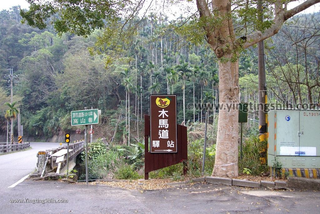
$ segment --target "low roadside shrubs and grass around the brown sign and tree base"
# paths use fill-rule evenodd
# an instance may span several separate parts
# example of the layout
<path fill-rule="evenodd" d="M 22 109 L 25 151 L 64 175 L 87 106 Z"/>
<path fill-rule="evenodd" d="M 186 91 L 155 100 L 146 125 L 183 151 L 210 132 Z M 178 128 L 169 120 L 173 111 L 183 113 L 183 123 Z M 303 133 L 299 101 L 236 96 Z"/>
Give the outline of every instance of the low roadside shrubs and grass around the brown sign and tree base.
<path fill-rule="evenodd" d="M 189 180 L 196 177 L 210 176 L 215 159 L 216 134 L 210 130 L 215 127 L 208 127 L 208 144 L 205 152 L 205 168 L 202 175 L 203 161 L 203 124 L 188 129 L 188 172 L 183 176 L 183 164 L 179 163 L 170 167 L 159 169 L 149 173 L 149 178 L 170 178 L 172 181 Z M 195 128 L 195 130 L 193 130 Z M 268 172 L 266 164 L 260 163 L 260 150 L 264 144 L 260 144 L 257 137 L 257 129 L 245 129 L 243 144 L 243 159 L 240 161 L 239 172 L 244 169 L 250 171 L 250 175 L 261 176 Z M 199 139 L 197 139 L 199 138 Z M 89 144 L 89 180 L 95 179 L 125 179 L 135 180 L 144 178 L 144 141 L 130 146 L 122 144 L 111 144 L 101 138 Z M 239 146 L 240 155 L 240 146 Z M 79 180 L 85 179 L 85 153 L 82 152 L 77 160 L 79 166 Z M 247 171 L 246 171 L 247 172 Z M 246 174 L 244 172 L 244 174 Z"/>

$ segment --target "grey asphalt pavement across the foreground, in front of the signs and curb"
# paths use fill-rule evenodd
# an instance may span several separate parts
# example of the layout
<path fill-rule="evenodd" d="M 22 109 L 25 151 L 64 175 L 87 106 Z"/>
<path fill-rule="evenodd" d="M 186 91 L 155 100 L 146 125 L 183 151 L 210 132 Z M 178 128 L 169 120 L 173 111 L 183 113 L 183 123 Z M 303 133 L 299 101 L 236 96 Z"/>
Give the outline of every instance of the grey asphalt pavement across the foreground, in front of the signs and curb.
<path fill-rule="evenodd" d="M 141 193 L 105 185 L 28 180 L 4 190 L 0 213 L 320 213 L 319 201 L 319 192 L 203 183 Z"/>

